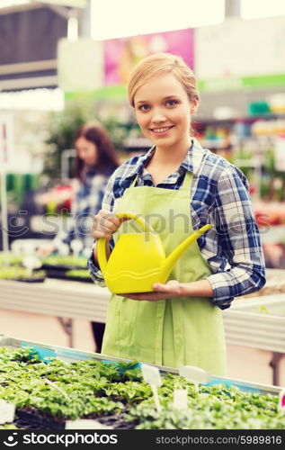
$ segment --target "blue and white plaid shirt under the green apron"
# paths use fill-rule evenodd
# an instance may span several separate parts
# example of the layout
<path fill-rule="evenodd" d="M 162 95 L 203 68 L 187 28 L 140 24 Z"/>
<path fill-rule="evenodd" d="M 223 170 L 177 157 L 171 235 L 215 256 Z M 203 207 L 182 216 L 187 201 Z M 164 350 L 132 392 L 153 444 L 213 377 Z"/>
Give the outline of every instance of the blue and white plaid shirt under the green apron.
<path fill-rule="evenodd" d="M 102 209 L 113 211 L 136 175 L 138 185 L 153 186 L 145 166 L 155 148 L 146 155 L 132 157 L 111 175 L 102 202 Z M 182 165 L 159 187 L 179 189 L 186 171 L 193 174 L 189 193 L 191 222 L 194 230 L 206 223 L 214 227 L 198 239 L 201 256 L 212 274 L 207 277 L 213 289 L 212 302 L 225 310 L 235 297 L 259 291 L 265 284 L 265 266 L 259 230 L 248 193 L 245 175 L 225 158 L 200 147 L 192 139 Z M 94 258 L 88 260 L 94 283 L 104 286 L 102 272 Z M 178 280 L 179 281 L 179 280 Z"/>

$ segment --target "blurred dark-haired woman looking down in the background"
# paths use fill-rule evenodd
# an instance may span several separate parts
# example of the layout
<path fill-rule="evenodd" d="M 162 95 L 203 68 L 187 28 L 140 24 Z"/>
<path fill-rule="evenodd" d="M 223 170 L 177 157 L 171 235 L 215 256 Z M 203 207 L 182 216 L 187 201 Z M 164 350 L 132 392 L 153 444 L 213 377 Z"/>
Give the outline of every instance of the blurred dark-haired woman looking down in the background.
<path fill-rule="evenodd" d="M 61 230 L 50 244 L 41 246 L 40 257 L 49 256 L 61 243 L 69 245 L 75 238 L 80 239 L 84 247 L 91 246 L 91 217 L 101 209 L 108 178 L 119 166 L 111 139 L 98 122 L 87 123 L 76 131 L 75 147 L 77 183 L 72 202 L 73 224 L 67 232 Z M 92 322 L 92 329 L 96 350 L 100 352 L 104 324 Z"/>

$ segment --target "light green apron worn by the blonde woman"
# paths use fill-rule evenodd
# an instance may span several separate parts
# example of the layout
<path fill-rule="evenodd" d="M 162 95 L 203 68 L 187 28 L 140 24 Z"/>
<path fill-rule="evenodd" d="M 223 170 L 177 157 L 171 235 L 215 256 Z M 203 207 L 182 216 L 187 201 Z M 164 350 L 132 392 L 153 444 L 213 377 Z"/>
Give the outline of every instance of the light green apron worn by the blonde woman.
<path fill-rule="evenodd" d="M 145 217 L 162 238 L 168 256 L 193 232 L 191 181 L 192 174 L 186 172 L 181 188 L 172 190 L 135 187 L 135 180 L 118 201 L 115 212 L 134 212 Z M 139 232 L 138 225 L 131 222 L 122 223 L 114 235 L 115 241 L 132 225 Z M 169 279 L 187 283 L 210 274 L 194 242 L 179 258 Z M 111 295 L 102 342 L 104 355 L 169 367 L 196 365 L 211 374 L 224 375 L 225 347 L 221 311 L 209 298 L 176 297 L 146 302 Z"/>

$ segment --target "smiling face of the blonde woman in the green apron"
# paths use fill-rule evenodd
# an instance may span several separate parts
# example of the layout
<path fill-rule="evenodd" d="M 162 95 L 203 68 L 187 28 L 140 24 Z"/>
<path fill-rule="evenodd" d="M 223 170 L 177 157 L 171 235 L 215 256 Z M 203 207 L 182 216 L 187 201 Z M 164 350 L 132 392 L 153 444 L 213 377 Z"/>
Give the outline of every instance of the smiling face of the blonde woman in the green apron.
<path fill-rule="evenodd" d="M 190 101 L 173 74 L 156 76 L 141 85 L 134 104 L 138 124 L 156 149 L 187 151 L 191 145 L 191 112 L 196 111 L 197 100 Z"/>

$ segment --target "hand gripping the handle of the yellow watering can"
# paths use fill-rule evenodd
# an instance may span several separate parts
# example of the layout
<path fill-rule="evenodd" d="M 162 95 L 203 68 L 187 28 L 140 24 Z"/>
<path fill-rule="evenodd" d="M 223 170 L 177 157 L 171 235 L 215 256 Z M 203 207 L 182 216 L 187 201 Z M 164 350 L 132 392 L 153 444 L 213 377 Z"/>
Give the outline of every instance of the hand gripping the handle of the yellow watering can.
<path fill-rule="evenodd" d="M 120 224 L 126 219 L 119 219 L 109 211 L 100 210 L 94 216 L 94 224 L 91 231 L 95 239 L 111 239 L 111 235 L 120 228 Z"/>

